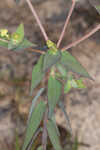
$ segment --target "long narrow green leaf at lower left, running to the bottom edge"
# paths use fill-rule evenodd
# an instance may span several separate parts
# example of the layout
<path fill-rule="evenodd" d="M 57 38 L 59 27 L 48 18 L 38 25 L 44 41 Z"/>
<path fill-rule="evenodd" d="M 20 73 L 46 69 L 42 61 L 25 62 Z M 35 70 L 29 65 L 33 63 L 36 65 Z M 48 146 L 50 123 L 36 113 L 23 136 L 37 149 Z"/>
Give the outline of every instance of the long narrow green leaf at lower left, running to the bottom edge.
<path fill-rule="evenodd" d="M 24 140 L 24 144 L 22 147 L 22 150 L 26 150 L 28 144 L 30 143 L 34 133 L 36 132 L 37 128 L 40 125 L 40 122 L 43 118 L 43 114 L 45 112 L 46 105 L 43 101 L 40 101 L 40 103 L 37 105 L 35 110 L 32 112 L 31 117 L 29 119 L 29 124 L 26 131 L 26 136 Z"/>

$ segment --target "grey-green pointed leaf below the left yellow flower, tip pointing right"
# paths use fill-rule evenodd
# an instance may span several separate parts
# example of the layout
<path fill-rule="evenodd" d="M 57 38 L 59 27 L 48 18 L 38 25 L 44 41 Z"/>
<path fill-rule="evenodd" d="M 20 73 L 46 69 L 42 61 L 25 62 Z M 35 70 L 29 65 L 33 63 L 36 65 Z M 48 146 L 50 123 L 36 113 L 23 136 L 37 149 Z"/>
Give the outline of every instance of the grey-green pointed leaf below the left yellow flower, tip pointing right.
<path fill-rule="evenodd" d="M 36 46 L 36 45 L 31 43 L 27 39 L 24 39 L 19 45 L 17 45 L 17 47 L 13 48 L 13 50 L 14 51 L 16 51 L 16 50 L 23 50 L 25 48 L 29 48 L 29 47 L 32 47 L 32 46 Z"/>

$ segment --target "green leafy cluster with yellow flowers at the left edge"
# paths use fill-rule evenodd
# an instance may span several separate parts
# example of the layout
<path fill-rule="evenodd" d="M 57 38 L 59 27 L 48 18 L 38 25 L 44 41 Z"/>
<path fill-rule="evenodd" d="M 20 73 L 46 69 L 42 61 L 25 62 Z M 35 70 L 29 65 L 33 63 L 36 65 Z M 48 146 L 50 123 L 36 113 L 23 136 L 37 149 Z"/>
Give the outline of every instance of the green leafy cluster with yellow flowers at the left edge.
<path fill-rule="evenodd" d="M 24 38 L 24 25 L 20 24 L 12 34 L 7 29 L 0 30 L 0 46 L 10 50 L 22 50 L 36 45 Z"/>

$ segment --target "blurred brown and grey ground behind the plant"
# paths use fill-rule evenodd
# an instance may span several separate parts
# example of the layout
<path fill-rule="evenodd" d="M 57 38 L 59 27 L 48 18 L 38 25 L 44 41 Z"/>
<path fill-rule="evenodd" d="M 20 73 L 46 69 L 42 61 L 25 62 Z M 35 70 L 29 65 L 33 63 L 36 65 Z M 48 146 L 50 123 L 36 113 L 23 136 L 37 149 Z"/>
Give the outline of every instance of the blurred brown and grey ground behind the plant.
<path fill-rule="evenodd" d="M 52 41 L 57 42 L 71 6 L 69 0 L 32 0 L 35 9 Z M 0 3 L 0 29 L 14 32 L 23 22 L 25 36 L 33 43 L 44 46 L 45 41 L 25 0 Z M 88 0 L 80 0 L 75 7 L 61 47 L 79 39 L 100 23 L 100 15 Z M 73 136 L 78 148 L 100 149 L 100 31 L 76 47 L 69 49 L 88 70 L 94 81 L 85 80 L 87 89 L 71 90 L 64 104 L 69 114 Z M 38 88 L 29 96 L 32 67 L 39 55 L 31 51 L 12 52 L 0 48 L 0 150 L 15 149 L 16 135 L 22 145 L 29 108 Z M 40 85 L 42 86 L 42 85 Z M 68 139 L 62 112 L 56 109 L 56 120 L 61 130 L 65 150 L 74 139 Z M 68 142 L 69 141 L 69 142 Z"/>

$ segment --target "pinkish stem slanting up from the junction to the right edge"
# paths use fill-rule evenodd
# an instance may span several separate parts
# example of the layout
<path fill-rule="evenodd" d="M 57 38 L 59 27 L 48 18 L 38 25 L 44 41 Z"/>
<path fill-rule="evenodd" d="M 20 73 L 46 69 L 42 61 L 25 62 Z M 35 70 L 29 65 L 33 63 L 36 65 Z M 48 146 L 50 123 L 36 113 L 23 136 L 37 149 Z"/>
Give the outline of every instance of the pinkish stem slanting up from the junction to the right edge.
<path fill-rule="evenodd" d="M 81 43 L 82 41 L 86 40 L 87 38 L 89 38 L 91 35 L 93 35 L 95 32 L 97 32 L 98 30 L 100 30 L 100 24 L 95 27 L 94 29 L 92 29 L 92 31 L 90 31 L 88 34 L 84 35 L 82 38 L 80 38 L 79 40 L 69 44 L 68 46 L 63 47 L 61 50 L 65 51 L 68 50 L 69 48 L 72 48 L 74 46 L 76 46 L 77 44 Z"/>

